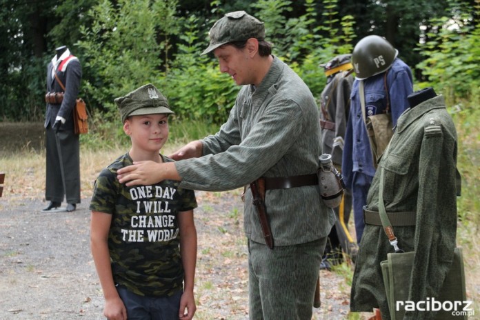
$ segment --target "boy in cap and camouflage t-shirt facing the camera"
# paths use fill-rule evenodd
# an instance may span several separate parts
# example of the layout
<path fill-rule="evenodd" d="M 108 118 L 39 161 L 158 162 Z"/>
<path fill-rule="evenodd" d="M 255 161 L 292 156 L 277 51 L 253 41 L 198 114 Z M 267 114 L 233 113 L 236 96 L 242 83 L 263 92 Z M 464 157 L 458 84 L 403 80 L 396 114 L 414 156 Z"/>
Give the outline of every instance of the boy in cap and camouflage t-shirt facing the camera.
<path fill-rule="evenodd" d="M 173 161 L 159 153 L 173 112 L 151 84 L 115 103 L 132 148 L 101 171 L 90 203 L 92 255 L 106 299 L 103 315 L 192 319 L 197 259 L 194 192 L 178 188 L 179 181 L 130 187 L 117 179 L 117 170 L 134 161 Z"/>

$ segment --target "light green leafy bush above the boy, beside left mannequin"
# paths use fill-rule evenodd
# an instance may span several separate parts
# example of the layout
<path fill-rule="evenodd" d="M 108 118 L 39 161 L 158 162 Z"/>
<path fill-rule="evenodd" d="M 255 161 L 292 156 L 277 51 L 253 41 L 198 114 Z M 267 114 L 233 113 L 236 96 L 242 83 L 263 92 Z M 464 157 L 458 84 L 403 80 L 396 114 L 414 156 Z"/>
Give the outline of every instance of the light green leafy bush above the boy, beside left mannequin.
<path fill-rule="evenodd" d="M 168 52 L 170 32 L 178 33 L 178 22 L 166 17 L 173 15 L 175 1 L 167 2 L 121 0 L 114 4 L 103 0 L 88 12 L 94 22 L 81 28 L 83 39 L 78 45 L 83 68 L 94 77 L 84 79 L 82 87 L 104 111 L 104 121 L 118 119 L 114 98 L 146 83 L 158 86 L 162 77 L 159 52 Z"/>

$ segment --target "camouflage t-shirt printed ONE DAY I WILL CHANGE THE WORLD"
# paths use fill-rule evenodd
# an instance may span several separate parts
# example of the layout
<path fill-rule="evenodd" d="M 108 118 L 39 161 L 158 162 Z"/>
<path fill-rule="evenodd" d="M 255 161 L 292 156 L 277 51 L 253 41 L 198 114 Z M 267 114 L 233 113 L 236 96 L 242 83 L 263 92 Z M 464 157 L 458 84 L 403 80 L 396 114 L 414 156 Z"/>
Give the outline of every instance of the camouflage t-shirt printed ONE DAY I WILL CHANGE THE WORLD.
<path fill-rule="evenodd" d="M 128 153 L 123 154 L 100 172 L 90 210 L 112 214 L 108 248 L 115 283 L 136 294 L 170 297 L 183 289 L 177 216 L 197 208 L 195 194 L 172 180 L 152 186 L 120 184 L 117 170 L 131 164 Z"/>

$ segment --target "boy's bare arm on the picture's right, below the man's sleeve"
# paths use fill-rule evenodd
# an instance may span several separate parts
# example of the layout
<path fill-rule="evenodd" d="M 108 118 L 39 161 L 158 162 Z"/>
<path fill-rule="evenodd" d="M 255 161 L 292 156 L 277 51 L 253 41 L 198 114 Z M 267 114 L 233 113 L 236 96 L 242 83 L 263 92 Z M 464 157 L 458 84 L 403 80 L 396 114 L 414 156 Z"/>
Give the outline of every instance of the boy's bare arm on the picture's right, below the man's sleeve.
<path fill-rule="evenodd" d="M 185 272 L 183 294 L 180 300 L 180 319 L 192 319 L 195 310 L 193 294 L 195 265 L 197 263 L 197 230 L 193 221 L 193 210 L 179 212 L 180 254 Z M 186 312 L 187 311 L 187 312 Z"/>

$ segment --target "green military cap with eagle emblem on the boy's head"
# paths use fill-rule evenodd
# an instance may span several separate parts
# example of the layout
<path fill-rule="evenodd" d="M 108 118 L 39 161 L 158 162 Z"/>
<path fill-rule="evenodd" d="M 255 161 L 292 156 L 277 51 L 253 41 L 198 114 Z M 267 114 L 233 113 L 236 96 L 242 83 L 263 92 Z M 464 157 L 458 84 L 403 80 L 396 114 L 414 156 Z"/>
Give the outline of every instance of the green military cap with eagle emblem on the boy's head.
<path fill-rule="evenodd" d="M 168 106 L 168 101 L 161 92 L 151 83 L 114 100 L 117 104 L 121 122 L 125 122 L 129 116 L 141 114 L 166 114 L 174 113 Z"/>

